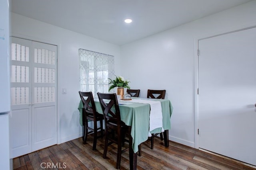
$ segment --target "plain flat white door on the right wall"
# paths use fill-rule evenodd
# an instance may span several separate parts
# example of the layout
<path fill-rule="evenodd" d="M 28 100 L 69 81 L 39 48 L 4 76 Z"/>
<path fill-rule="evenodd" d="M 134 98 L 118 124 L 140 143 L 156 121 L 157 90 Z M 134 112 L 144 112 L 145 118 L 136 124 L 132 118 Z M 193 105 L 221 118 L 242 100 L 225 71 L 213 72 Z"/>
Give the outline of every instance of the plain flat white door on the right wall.
<path fill-rule="evenodd" d="M 198 45 L 199 148 L 256 165 L 256 28 Z"/>

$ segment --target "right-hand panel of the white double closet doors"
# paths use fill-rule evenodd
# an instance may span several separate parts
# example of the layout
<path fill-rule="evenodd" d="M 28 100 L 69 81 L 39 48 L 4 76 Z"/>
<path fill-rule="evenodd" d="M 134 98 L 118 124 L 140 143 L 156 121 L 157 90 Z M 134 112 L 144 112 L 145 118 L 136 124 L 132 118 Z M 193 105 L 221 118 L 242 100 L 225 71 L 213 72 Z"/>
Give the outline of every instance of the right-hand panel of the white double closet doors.
<path fill-rule="evenodd" d="M 57 143 L 57 47 L 32 42 L 32 151 Z"/>

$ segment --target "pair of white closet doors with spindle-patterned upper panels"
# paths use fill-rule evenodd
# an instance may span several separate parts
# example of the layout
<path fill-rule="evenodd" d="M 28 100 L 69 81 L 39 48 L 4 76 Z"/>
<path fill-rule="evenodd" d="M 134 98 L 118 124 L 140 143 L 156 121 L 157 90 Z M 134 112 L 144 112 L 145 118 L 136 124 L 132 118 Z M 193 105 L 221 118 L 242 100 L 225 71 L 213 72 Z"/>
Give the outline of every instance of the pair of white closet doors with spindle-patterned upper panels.
<path fill-rule="evenodd" d="M 57 143 L 57 47 L 12 38 L 12 158 Z"/>

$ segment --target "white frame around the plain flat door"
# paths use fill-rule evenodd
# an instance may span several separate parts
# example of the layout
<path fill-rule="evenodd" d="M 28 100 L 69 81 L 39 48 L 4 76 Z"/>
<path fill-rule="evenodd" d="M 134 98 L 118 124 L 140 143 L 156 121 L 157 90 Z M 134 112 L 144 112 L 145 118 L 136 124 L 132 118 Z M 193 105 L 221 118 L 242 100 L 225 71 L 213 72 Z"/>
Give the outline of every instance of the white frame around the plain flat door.
<path fill-rule="evenodd" d="M 208 39 L 216 36 L 221 36 L 229 33 L 234 33 L 237 31 L 243 31 L 246 29 L 254 28 L 256 27 L 256 22 L 247 24 L 247 25 L 239 25 L 237 27 L 230 27 L 229 29 L 217 31 L 213 33 L 209 33 L 206 35 L 198 36 L 194 38 L 194 148 L 199 149 L 199 95 L 198 95 L 198 89 L 199 89 L 199 55 L 200 51 L 198 51 L 199 48 L 199 41 L 203 39 Z M 199 55 L 198 55 L 199 54 Z M 200 90 L 199 90 L 200 93 Z"/>

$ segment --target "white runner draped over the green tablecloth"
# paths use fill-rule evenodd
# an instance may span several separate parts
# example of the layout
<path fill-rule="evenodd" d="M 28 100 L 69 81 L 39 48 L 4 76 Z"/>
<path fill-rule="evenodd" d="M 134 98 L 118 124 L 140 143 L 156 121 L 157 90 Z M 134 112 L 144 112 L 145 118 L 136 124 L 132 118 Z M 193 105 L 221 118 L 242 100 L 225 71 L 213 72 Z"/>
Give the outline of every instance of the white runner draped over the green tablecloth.
<path fill-rule="evenodd" d="M 162 132 L 164 131 L 162 107 L 160 102 L 153 101 L 153 100 L 142 100 L 142 99 L 132 99 L 129 102 L 150 104 L 149 132 L 148 132 L 149 137 L 151 137 L 150 131 L 156 128 L 161 127 L 162 128 L 161 131 Z"/>

